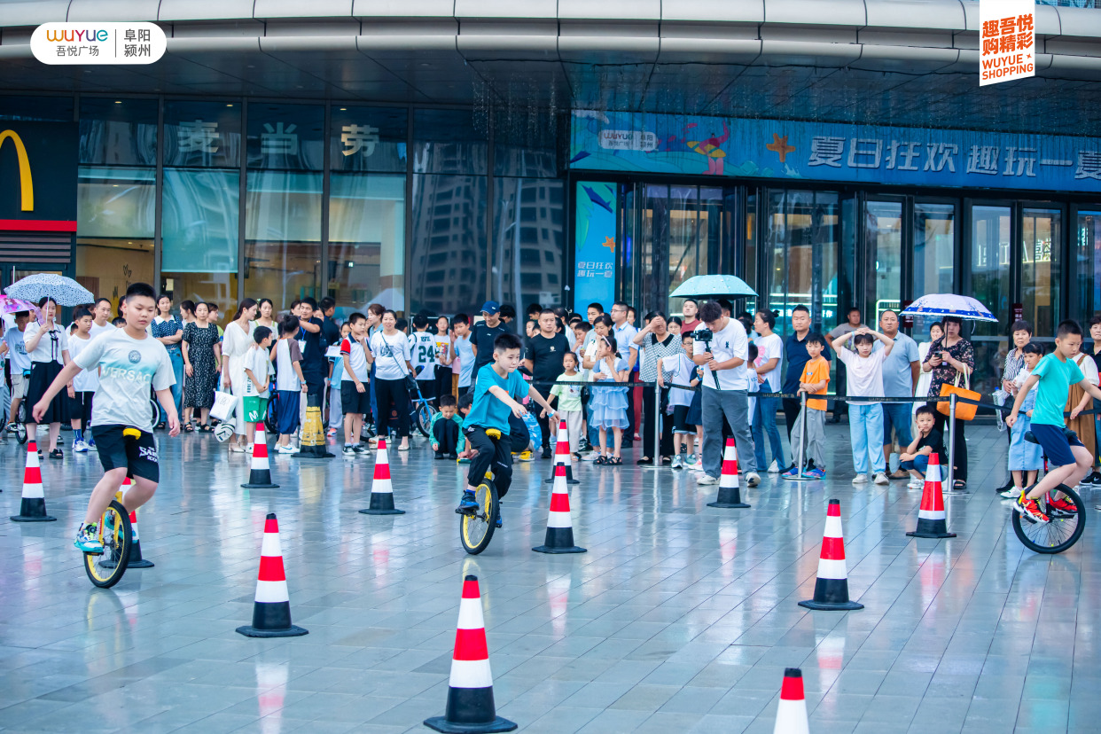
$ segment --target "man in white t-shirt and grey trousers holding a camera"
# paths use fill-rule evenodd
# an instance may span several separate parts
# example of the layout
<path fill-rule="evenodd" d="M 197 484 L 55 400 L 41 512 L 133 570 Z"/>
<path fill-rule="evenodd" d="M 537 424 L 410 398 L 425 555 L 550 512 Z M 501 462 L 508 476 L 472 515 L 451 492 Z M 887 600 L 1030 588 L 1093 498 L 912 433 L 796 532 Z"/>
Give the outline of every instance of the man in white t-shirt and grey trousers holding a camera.
<path fill-rule="evenodd" d="M 745 362 L 749 359 L 749 340 L 745 327 L 730 318 L 722 307 L 709 300 L 699 309 L 699 318 L 710 331 L 696 331 L 693 360 L 704 365 L 704 474 L 697 484 L 718 484 L 722 470 L 722 418 L 726 416 L 734 431 L 738 460 L 745 471 L 745 483 L 756 486 L 761 476 L 753 458 L 753 437 L 750 435 L 749 377 Z"/>

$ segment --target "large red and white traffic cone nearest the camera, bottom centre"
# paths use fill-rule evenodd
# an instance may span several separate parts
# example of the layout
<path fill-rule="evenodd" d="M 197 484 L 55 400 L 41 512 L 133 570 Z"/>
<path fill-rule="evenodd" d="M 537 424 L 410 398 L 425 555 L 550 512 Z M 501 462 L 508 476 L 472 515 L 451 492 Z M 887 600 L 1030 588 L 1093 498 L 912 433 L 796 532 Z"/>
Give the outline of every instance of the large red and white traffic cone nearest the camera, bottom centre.
<path fill-rule="evenodd" d="M 447 710 L 443 716 L 425 719 L 424 725 L 446 734 L 511 732 L 514 722 L 497 715 L 493 676 L 489 669 L 489 647 L 482 620 L 478 577 L 462 581 L 459 624 L 455 633 L 451 679 L 447 688 Z"/>

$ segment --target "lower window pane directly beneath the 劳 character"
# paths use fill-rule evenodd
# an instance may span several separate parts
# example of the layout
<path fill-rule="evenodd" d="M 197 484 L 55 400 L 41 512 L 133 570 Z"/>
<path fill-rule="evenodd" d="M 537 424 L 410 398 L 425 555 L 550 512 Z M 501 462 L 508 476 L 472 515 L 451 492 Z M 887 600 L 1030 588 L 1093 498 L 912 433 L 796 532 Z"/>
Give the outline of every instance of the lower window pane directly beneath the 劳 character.
<path fill-rule="evenodd" d="M 333 174 L 328 295 L 337 317 L 370 304 L 405 309 L 405 176 Z"/>

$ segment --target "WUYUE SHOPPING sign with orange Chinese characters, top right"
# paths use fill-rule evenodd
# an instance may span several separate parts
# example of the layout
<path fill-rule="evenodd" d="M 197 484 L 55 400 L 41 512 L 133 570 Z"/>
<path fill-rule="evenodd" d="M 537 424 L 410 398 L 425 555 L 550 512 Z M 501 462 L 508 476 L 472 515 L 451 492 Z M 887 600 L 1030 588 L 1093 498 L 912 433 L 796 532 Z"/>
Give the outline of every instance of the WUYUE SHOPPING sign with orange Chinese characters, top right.
<path fill-rule="evenodd" d="M 979 86 L 1036 76 L 1035 0 L 979 0 Z"/>

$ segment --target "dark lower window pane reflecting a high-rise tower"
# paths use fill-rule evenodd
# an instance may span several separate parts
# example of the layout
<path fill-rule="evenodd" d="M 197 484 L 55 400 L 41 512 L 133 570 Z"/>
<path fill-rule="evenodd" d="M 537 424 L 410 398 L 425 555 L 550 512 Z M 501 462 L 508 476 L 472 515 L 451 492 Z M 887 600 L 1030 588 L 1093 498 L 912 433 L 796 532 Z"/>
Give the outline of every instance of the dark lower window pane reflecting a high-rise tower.
<path fill-rule="evenodd" d="M 410 307 L 471 316 L 486 303 L 486 177 L 413 176 Z"/>

